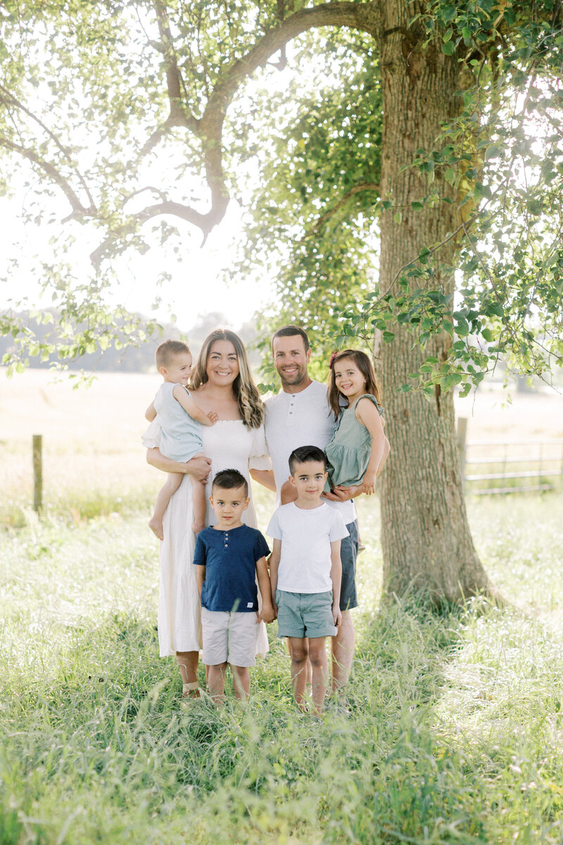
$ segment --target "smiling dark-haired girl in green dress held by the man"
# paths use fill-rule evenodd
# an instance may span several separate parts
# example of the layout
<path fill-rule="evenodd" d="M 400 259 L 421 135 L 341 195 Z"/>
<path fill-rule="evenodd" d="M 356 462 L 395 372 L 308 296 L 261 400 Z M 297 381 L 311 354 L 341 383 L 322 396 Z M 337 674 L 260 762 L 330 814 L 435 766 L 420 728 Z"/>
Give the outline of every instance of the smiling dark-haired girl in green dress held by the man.
<path fill-rule="evenodd" d="M 373 364 L 365 352 L 344 349 L 330 359 L 328 404 L 338 428 L 325 449 L 328 482 L 325 491 L 358 487 L 358 493 L 375 493 L 376 476 L 382 471 L 389 441 L 379 405 L 380 390 Z M 342 406 L 342 400 L 346 403 Z"/>

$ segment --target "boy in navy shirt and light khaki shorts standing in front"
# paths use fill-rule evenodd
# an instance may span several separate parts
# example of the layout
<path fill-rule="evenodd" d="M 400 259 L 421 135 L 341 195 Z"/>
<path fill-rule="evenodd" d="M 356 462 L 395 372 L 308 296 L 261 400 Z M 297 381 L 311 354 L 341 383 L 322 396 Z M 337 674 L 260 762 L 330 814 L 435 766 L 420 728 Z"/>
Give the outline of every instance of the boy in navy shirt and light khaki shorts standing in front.
<path fill-rule="evenodd" d="M 268 543 L 256 528 L 243 525 L 248 484 L 237 470 L 214 477 L 209 497 L 217 516 L 214 526 L 198 534 L 193 564 L 198 567 L 202 604 L 203 662 L 214 702 L 223 701 L 227 664 L 233 674 L 235 697 L 250 695 L 249 667 L 254 666 L 258 626 L 273 622 Z M 258 610 L 257 585 L 262 596 Z"/>

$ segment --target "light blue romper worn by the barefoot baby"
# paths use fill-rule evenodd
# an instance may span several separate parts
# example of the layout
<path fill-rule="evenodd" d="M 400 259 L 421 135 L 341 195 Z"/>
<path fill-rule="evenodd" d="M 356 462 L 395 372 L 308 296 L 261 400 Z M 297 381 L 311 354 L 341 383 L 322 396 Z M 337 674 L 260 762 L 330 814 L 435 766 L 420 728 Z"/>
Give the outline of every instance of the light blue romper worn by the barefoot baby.
<path fill-rule="evenodd" d="M 180 385 L 184 387 L 183 384 Z M 154 396 L 154 410 L 159 415 L 162 435 L 160 438 L 160 452 L 172 461 L 189 461 L 193 455 L 203 451 L 201 423 L 196 423 L 184 411 L 179 401 L 172 395 L 176 384 L 165 381 L 160 385 Z M 187 387 L 184 387 L 190 395 Z"/>

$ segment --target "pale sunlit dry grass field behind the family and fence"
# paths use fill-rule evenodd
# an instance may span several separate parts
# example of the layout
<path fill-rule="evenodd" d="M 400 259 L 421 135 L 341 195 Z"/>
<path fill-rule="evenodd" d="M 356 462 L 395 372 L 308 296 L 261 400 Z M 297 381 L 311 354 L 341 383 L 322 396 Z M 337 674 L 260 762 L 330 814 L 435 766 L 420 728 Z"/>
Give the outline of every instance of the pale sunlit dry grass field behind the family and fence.
<path fill-rule="evenodd" d="M 31 437 L 43 435 L 44 501 L 57 511 L 127 510 L 150 499 L 161 477 L 144 461 L 143 413 L 160 384 L 157 375 L 100 373 L 73 390 L 68 379 L 28 370 L 6 379 L 0 370 L 0 521 L 17 521 L 33 498 Z M 468 441 L 563 438 L 563 396 L 480 390 L 457 400 L 468 418 Z M 72 504 L 74 503 L 74 504 Z M 78 512 L 77 512 L 78 517 Z"/>

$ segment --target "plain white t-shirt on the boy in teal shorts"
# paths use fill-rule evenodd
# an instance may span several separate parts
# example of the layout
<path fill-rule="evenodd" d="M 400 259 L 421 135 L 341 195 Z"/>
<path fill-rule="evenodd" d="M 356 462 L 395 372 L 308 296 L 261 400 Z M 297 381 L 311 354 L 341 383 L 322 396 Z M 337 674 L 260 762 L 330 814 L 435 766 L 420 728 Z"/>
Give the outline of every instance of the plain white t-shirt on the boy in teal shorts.
<path fill-rule="evenodd" d="M 323 502 L 305 510 L 295 502 L 282 504 L 273 514 L 266 532 L 281 540 L 278 589 L 287 592 L 328 592 L 331 581 L 330 544 L 348 537 L 338 510 Z"/>

